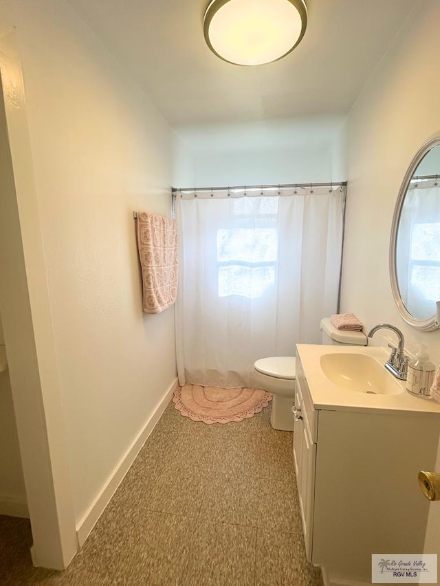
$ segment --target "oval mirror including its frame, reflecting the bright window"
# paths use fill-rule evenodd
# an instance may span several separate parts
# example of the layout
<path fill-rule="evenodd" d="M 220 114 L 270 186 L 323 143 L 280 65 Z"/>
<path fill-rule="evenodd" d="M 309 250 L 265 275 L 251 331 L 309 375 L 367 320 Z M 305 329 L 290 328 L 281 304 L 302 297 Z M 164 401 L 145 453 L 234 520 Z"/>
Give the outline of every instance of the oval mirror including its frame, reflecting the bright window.
<path fill-rule="evenodd" d="M 391 287 L 401 317 L 434 330 L 440 301 L 440 137 L 412 159 L 397 199 L 390 243 Z"/>

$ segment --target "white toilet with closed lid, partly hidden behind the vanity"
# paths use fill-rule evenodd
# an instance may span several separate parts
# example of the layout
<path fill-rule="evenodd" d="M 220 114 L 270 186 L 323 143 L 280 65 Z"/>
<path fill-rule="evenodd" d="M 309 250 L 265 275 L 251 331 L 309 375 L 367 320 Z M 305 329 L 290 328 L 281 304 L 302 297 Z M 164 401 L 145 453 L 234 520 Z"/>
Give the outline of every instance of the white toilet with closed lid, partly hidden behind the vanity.
<path fill-rule="evenodd" d="M 362 332 L 338 330 L 329 317 L 320 322 L 323 344 L 338 346 L 366 346 L 368 339 Z M 254 363 L 254 380 L 265 391 L 274 395 L 270 423 L 274 429 L 293 431 L 296 358 L 292 356 L 273 356 L 261 358 Z"/>

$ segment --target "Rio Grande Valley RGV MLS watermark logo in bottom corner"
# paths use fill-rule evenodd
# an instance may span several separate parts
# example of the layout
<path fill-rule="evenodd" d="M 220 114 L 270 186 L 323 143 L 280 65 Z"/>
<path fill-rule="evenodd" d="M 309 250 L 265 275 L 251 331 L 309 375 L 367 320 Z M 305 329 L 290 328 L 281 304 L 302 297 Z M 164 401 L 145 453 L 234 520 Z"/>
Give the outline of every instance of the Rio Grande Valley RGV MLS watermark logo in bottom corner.
<path fill-rule="evenodd" d="M 437 584 L 437 554 L 371 554 L 373 584 Z"/>

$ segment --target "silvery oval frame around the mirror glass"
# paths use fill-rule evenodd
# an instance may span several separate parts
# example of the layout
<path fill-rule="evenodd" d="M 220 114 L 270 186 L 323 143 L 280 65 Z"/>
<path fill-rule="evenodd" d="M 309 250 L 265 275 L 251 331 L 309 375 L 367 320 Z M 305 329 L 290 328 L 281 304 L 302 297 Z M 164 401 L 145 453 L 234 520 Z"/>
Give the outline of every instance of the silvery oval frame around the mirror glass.
<path fill-rule="evenodd" d="M 440 137 L 435 137 L 419 148 L 417 154 L 415 155 L 414 159 L 412 159 L 408 170 L 406 171 L 404 181 L 401 183 L 401 187 L 399 190 L 399 196 L 397 197 L 397 202 L 394 210 L 393 215 L 393 223 L 391 225 L 391 238 L 390 238 L 390 278 L 391 278 L 391 290 L 393 291 L 393 297 L 395 303 L 397 305 L 397 311 L 399 311 L 400 317 L 404 319 L 404 321 L 415 328 L 416 330 L 421 330 L 424 332 L 431 332 L 432 330 L 437 330 L 439 325 L 436 324 L 436 312 L 434 311 L 432 317 L 428 317 L 428 319 L 417 319 L 414 315 L 411 315 L 406 308 L 403 300 L 401 299 L 399 285 L 397 283 L 397 270 L 396 270 L 396 244 L 397 244 L 397 232 L 399 229 L 399 221 L 401 216 L 401 209 L 404 205 L 404 199 L 406 197 L 406 192 L 408 190 L 408 185 L 410 184 L 410 180 L 412 179 L 415 170 L 421 163 L 421 160 L 425 155 L 429 153 L 429 151 L 434 148 L 434 146 L 440 145 Z"/>

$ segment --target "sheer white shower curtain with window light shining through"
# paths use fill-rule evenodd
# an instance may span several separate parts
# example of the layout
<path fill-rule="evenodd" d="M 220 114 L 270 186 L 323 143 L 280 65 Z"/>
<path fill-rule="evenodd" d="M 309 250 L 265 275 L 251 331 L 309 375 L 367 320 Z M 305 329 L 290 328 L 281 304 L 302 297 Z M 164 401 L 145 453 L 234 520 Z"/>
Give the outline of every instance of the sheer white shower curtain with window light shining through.
<path fill-rule="evenodd" d="M 256 359 L 320 342 L 338 308 L 344 201 L 328 187 L 177 192 L 181 385 L 252 387 Z"/>

